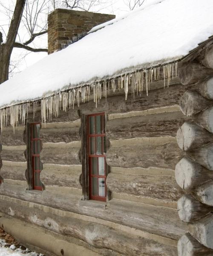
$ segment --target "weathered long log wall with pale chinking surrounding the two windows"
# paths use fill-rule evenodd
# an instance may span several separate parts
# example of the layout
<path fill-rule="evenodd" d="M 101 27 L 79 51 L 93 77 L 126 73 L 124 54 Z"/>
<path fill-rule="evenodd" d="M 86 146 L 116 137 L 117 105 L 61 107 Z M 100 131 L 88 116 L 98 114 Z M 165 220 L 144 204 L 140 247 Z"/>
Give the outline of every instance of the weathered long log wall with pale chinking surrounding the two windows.
<path fill-rule="evenodd" d="M 175 178 L 175 166 L 185 154 L 176 133 L 191 121 L 178 105 L 186 87 L 191 85 L 163 89 L 160 84 L 148 97 L 128 96 L 127 101 L 118 93 L 101 99 L 97 109 L 89 102 L 52 117 L 40 130 L 42 192 L 26 190 L 26 129 L 13 133 L 6 128 L 0 212 L 75 237 L 94 250 L 107 248 L 106 255 L 177 256 L 177 241 L 187 232 L 176 210 L 185 192 Z M 112 193 L 107 203 L 82 200 L 80 118 L 99 111 L 107 114 L 107 187 Z"/>

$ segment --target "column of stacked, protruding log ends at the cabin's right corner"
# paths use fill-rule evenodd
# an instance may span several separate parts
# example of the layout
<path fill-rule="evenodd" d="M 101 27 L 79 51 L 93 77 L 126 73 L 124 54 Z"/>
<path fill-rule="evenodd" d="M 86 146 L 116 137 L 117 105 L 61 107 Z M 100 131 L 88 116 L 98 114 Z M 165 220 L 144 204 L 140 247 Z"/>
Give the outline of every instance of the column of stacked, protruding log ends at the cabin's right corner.
<path fill-rule="evenodd" d="M 177 132 L 185 155 L 176 165 L 176 181 L 186 192 L 178 200 L 178 215 L 188 223 L 188 233 L 178 241 L 178 256 L 213 255 L 212 59 L 212 47 L 206 48 L 197 58 L 200 63 L 188 63 L 179 73 L 181 83 L 193 88 L 180 99 L 181 111 L 192 120 Z"/>

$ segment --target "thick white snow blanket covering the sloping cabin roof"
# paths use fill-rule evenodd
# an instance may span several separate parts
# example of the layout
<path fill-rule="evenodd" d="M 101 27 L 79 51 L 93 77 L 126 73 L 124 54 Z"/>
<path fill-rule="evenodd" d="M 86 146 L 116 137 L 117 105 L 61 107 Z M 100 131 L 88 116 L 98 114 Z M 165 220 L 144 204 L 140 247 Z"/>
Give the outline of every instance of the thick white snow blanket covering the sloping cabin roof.
<path fill-rule="evenodd" d="M 212 13 L 213 0 L 153 0 L 1 84 L 0 107 L 49 96 L 125 68 L 178 60 L 213 35 Z"/>

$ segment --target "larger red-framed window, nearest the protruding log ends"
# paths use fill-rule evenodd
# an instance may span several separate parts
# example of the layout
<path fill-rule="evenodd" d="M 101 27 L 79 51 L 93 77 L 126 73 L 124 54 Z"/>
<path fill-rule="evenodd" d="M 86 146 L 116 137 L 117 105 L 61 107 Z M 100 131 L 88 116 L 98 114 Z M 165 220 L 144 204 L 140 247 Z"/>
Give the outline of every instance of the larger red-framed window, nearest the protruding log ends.
<path fill-rule="evenodd" d="M 87 116 L 89 199 L 106 201 L 107 198 L 107 163 L 105 114 Z"/>

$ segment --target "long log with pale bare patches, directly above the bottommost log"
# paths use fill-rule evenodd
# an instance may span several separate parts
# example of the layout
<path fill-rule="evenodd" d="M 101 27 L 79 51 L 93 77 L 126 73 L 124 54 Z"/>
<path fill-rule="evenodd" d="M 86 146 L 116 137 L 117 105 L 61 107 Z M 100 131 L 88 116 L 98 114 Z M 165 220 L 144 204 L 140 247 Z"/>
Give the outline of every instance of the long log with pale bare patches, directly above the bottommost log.
<path fill-rule="evenodd" d="M 141 254 L 156 256 L 156 252 L 158 255 L 177 255 L 175 247 L 129 235 L 128 233 L 109 228 L 103 224 L 98 224 L 95 222 L 95 219 L 94 222 L 88 222 L 83 219 L 53 215 L 52 213 L 43 212 L 40 209 L 20 207 L 17 204 L 3 200 L 0 200 L 0 202 L 1 211 L 5 214 L 15 215 L 21 220 L 36 224 L 61 235 L 76 237 L 94 247 L 103 247 L 132 256 Z"/>

